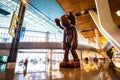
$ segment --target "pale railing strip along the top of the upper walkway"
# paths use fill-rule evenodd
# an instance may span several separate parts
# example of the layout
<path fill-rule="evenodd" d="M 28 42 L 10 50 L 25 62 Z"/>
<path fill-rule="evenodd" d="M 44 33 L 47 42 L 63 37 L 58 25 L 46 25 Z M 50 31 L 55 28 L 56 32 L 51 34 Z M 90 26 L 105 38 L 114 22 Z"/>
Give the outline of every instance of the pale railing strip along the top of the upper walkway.
<path fill-rule="evenodd" d="M 49 34 L 49 38 L 47 40 L 46 34 L 44 35 L 24 35 L 21 37 L 20 42 L 62 42 L 62 34 Z M 0 42 L 12 42 L 12 37 L 9 33 L 0 33 Z"/>

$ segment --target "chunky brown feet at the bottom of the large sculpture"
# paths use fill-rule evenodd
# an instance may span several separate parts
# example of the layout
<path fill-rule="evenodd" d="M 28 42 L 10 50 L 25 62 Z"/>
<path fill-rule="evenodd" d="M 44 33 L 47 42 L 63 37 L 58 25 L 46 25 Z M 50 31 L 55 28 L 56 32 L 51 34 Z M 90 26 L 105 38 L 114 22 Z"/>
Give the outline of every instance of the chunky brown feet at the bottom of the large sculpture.
<path fill-rule="evenodd" d="M 60 62 L 60 68 L 79 68 L 80 62 L 71 61 L 71 62 Z"/>

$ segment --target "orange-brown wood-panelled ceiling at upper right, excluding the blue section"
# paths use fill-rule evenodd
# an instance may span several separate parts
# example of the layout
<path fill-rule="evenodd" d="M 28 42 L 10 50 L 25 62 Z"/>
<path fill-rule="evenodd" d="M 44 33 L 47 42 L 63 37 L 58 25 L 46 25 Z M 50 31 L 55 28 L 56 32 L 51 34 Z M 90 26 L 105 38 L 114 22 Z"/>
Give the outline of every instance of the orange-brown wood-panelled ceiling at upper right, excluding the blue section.
<path fill-rule="evenodd" d="M 108 0 L 110 4 L 111 14 L 115 24 L 120 24 L 120 17 L 116 15 L 116 11 L 120 10 L 120 0 Z M 82 35 L 87 38 L 89 41 L 94 42 L 94 29 L 97 29 L 95 23 L 93 22 L 89 13 L 82 14 L 82 11 L 96 8 L 95 0 L 57 0 L 65 12 L 72 11 L 76 16 L 77 27 L 82 33 Z M 102 34 L 99 32 L 99 36 Z M 103 39 L 103 38 L 102 38 Z M 102 41 L 101 39 L 101 41 Z"/>

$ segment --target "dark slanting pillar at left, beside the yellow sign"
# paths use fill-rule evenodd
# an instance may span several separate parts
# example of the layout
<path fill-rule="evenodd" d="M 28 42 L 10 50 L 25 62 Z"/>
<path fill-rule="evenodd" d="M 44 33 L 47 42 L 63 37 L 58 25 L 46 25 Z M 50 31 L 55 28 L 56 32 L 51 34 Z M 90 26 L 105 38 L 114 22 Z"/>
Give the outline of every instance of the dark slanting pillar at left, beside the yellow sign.
<path fill-rule="evenodd" d="M 19 44 L 19 40 L 20 40 L 20 32 L 22 29 L 25 10 L 26 10 L 26 5 L 24 2 L 21 1 L 20 10 L 19 10 L 19 14 L 18 14 L 17 28 L 15 31 L 15 38 L 13 38 L 13 40 L 12 40 L 10 54 L 8 56 L 8 63 L 16 62 L 16 59 L 17 59 L 18 44 Z"/>

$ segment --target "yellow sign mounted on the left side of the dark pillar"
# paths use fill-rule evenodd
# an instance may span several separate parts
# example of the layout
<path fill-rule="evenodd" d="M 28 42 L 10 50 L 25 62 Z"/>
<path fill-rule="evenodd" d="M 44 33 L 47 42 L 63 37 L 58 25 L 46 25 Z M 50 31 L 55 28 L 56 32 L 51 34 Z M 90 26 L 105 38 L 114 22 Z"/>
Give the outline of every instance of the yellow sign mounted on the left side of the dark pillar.
<path fill-rule="evenodd" d="M 15 38 L 15 28 L 17 28 L 18 16 L 15 11 L 13 12 L 12 20 L 10 23 L 9 34 Z"/>

